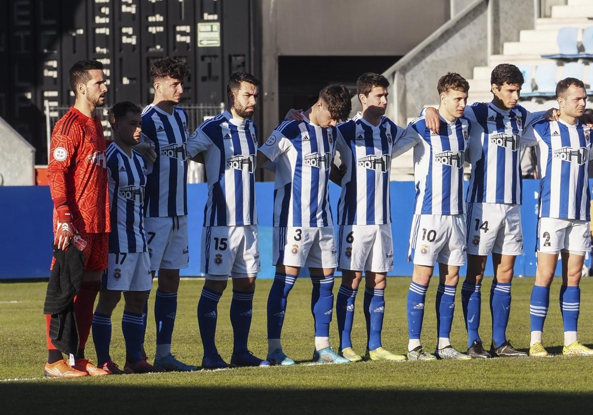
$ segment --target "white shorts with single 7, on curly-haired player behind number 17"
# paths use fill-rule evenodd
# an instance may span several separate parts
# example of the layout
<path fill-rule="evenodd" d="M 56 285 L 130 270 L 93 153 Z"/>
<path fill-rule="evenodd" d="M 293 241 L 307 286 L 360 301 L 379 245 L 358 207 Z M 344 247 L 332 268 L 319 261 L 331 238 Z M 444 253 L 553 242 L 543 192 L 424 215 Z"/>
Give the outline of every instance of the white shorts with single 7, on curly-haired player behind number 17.
<path fill-rule="evenodd" d="M 178 270 L 189 266 L 187 215 L 144 218 L 150 268 Z"/>

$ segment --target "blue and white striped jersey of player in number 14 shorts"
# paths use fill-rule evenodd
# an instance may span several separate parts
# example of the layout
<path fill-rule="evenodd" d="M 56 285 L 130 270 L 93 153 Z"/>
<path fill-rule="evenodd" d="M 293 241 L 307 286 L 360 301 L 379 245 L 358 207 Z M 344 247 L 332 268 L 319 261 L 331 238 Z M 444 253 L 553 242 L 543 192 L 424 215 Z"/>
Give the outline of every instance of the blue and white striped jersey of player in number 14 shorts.
<path fill-rule="evenodd" d="M 467 202 L 521 204 L 521 135 L 541 114 L 520 105 L 508 111 L 492 103 L 466 107 L 464 117 L 471 122 Z"/>

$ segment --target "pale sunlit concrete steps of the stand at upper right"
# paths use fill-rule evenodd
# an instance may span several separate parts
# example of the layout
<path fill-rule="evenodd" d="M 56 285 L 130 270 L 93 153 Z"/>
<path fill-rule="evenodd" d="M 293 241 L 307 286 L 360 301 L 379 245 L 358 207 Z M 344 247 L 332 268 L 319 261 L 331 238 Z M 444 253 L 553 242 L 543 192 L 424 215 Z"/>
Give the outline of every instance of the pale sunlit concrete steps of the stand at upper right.
<path fill-rule="evenodd" d="M 470 93 L 468 104 L 475 102 L 489 102 L 492 100 L 490 92 L 490 72 L 499 63 L 513 63 L 514 65 L 532 66 L 533 75 L 535 68 L 544 62 L 556 62 L 553 59 L 541 58 L 541 55 L 558 53 L 556 36 L 561 27 L 578 27 L 579 42 L 581 41 L 582 29 L 593 25 L 593 0 L 568 0 L 567 5 L 552 6 L 550 18 L 538 18 L 535 21 L 534 30 L 521 30 L 519 41 L 506 42 L 503 46 L 502 55 L 491 55 L 488 66 L 476 66 L 473 70 L 473 78 L 468 79 Z M 593 62 L 591 63 L 593 65 Z M 557 79 L 562 76 L 562 63 L 558 66 Z M 585 74 L 587 71 L 585 71 Z M 532 76 L 533 76 L 532 75 Z M 593 79 L 584 79 L 585 86 L 593 84 Z M 531 79 L 525 79 L 531 82 Z M 593 87 L 590 87 L 593 89 Z M 525 98 L 522 105 L 530 111 L 541 111 L 549 109 L 556 104 L 550 98 Z M 426 106 L 437 107 L 438 104 L 426 104 Z M 413 117 L 408 119 L 412 121 Z M 466 168 L 466 174 L 469 173 Z M 391 167 L 391 180 L 414 180 L 413 178 L 413 150 L 394 159 Z"/>

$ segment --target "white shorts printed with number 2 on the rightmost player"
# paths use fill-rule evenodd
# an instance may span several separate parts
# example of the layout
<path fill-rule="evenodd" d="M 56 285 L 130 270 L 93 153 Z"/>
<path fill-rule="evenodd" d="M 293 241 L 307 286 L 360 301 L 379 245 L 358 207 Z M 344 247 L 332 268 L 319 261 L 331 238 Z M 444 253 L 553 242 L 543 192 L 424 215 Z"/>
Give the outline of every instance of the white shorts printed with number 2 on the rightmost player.
<path fill-rule="evenodd" d="M 591 250 L 589 222 L 579 219 L 540 218 L 537 221 L 537 251 L 544 254 L 585 255 Z"/>

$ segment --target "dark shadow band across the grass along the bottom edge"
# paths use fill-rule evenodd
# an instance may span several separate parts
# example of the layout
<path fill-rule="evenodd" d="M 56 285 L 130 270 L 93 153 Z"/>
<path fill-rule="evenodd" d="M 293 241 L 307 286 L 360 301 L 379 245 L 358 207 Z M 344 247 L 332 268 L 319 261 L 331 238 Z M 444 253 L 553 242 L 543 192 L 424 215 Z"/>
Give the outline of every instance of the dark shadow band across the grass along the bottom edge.
<path fill-rule="evenodd" d="M 369 379 L 369 384 L 371 383 Z M 410 379 L 410 384 L 413 380 Z M 514 389 L 509 385 L 509 390 Z M 0 385 L 3 414 L 319 414 L 319 413 L 591 413 L 591 394 L 490 391 L 291 390 L 287 388 L 77 385 L 72 382 Z"/>

